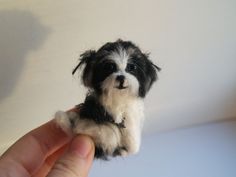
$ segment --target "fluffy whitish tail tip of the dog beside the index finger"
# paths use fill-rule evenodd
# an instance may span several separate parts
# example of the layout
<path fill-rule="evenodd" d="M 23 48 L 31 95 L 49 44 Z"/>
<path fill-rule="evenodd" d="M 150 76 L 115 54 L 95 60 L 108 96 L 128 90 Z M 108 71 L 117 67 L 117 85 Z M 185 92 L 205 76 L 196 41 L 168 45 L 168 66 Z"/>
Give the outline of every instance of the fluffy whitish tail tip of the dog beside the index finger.
<path fill-rule="evenodd" d="M 72 134 L 72 125 L 68 113 L 57 111 L 55 114 L 55 122 L 67 134 Z"/>

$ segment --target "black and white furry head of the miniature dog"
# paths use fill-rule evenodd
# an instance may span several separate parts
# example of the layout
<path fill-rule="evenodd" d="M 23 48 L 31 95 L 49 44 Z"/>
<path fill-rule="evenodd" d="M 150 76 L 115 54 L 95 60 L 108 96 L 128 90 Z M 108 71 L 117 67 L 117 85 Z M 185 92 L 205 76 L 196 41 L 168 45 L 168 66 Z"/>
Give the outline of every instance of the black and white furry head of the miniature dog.
<path fill-rule="evenodd" d="M 145 97 L 160 70 L 136 45 L 122 40 L 86 51 L 73 74 L 82 65 L 83 83 L 96 93 L 113 90 L 139 97 Z"/>

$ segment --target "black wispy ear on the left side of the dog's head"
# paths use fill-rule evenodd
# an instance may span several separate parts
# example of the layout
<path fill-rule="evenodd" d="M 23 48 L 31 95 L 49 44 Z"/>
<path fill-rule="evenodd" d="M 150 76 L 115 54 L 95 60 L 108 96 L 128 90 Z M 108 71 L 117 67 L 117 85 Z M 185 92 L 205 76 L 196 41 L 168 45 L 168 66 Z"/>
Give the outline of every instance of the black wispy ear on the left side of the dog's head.
<path fill-rule="evenodd" d="M 73 69 L 72 74 L 74 75 L 75 72 L 82 66 L 82 81 L 86 87 L 91 87 L 91 80 L 92 80 L 92 71 L 93 71 L 93 63 L 95 60 L 96 51 L 95 50 L 88 50 L 80 55 L 80 62 L 79 64 Z"/>

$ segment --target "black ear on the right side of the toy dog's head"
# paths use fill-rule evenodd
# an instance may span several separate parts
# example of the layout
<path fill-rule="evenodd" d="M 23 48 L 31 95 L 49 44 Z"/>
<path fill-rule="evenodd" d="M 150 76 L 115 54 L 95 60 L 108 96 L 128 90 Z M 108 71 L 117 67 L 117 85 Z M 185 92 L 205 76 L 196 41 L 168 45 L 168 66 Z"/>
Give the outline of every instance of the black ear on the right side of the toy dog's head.
<path fill-rule="evenodd" d="M 149 54 L 145 54 L 146 62 L 146 80 L 144 86 L 143 96 L 150 90 L 152 84 L 157 80 L 157 72 L 161 71 L 161 68 L 153 64 L 149 59 Z"/>

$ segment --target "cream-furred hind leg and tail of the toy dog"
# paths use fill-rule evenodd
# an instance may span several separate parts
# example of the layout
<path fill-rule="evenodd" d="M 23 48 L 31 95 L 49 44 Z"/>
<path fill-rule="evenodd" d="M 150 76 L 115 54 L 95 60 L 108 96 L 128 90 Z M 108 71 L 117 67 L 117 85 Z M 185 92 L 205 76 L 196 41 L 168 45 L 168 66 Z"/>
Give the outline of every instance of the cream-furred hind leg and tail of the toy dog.
<path fill-rule="evenodd" d="M 112 156 L 120 147 L 120 129 L 112 123 L 97 124 L 95 121 L 80 118 L 76 112 L 58 111 L 55 116 L 58 125 L 69 134 L 85 134 L 90 136 L 96 149 L 104 155 Z"/>

